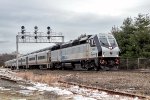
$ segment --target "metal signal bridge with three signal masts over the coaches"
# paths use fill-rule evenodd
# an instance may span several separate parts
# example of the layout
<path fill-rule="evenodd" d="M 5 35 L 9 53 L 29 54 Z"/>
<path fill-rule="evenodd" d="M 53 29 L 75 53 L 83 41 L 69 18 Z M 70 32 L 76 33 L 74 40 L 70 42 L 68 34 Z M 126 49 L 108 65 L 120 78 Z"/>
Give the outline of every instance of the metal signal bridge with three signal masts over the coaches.
<path fill-rule="evenodd" d="M 38 32 L 38 27 L 34 27 L 34 32 L 26 32 L 24 26 L 21 26 L 21 32 L 16 35 L 16 65 L 18 67 L 18 43 L 63 43 L 64 36 L 62 33 L 52 32 L 51 28 L 47 27 L 47 34 Z"/>

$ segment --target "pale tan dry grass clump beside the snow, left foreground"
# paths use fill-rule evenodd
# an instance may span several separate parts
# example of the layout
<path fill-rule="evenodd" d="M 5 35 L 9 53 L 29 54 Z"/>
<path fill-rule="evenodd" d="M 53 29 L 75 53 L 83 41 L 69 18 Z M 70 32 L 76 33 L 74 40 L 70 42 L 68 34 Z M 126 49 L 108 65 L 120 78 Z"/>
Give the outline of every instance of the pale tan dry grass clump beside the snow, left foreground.
<path fill-rule="evenodd" d="M 17 76 L 22 77 L 25 80 L 31 80 L 33 82 L 46 83 L 51 85 L 58 81 L 59 77 L 53 76 L 51 74 L 37 75 L 33 72 L 19 72 Z"/>

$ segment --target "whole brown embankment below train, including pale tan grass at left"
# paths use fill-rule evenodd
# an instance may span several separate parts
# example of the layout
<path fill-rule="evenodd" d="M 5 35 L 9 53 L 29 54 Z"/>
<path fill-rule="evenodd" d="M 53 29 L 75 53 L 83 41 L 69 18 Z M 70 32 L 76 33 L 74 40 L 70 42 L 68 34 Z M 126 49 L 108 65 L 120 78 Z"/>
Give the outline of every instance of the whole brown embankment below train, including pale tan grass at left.
<path fill-rule="evenodd" d="M 52 84 L 58 80 L 150 96 L 150 73 L 135 71 L 19 71 L 27 80 Z"/>

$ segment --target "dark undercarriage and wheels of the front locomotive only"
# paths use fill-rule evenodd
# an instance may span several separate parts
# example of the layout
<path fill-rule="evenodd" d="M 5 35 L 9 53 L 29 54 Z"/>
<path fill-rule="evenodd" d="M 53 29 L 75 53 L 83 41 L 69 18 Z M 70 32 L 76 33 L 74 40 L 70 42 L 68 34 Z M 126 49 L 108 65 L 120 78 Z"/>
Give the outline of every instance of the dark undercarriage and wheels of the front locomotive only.
<path fill-rule="evenodd" d="M 80 67 L 83 70 L 118 70 L 119 58 L 97 58 L 90 60 L 54 62 L 50 65 L 51 69 L 76 69 Z"/>

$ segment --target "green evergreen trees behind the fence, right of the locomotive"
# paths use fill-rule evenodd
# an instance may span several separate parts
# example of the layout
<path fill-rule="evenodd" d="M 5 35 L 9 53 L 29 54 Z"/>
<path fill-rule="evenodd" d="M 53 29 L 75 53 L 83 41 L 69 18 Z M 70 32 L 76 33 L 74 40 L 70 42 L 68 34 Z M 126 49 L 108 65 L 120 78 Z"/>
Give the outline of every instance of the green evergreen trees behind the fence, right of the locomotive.
<path fill-rule="evenodd" d="M 150 57 L 150 16 L 138 14 L 126 18 L 120 27 L 112 27 L 121 50 L 121 57 Z"/>

